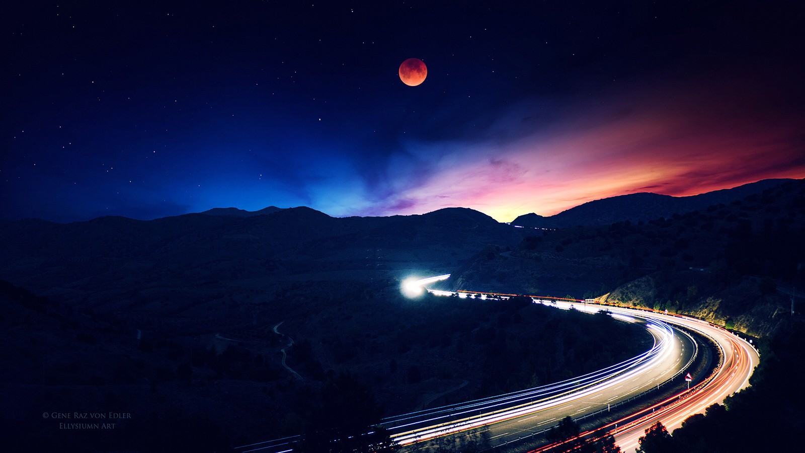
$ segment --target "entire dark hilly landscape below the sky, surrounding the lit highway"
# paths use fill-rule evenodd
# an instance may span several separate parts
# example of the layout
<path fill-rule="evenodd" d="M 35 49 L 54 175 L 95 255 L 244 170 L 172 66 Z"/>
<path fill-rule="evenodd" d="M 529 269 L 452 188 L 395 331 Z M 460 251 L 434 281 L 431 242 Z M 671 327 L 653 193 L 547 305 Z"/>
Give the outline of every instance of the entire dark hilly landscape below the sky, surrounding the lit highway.
<path fill-rule="evenodd" d="M 761 383 L 798 363 L 794 339 L 774 335 L 801 325 L 790 293 L 805 288 L 805 181 L 766 184 L 687 213 L 555 231 L 461 208 L 0 222 L 0 426 L 20 451 L 225 449 L 312 429 L 340 404 L 333 389 L 399 414 L 576 376 L 650 342 L 637 326 L 521 297 L 400 293 L 409 276 L 441 273 L 448 289 L 597 297 L 762 337 L 770 371 L 744 405 L 760 410 L 776 395 Z M 132 419 L 97 435 L 54 430 L 42 417 L 53 411 Z"/>

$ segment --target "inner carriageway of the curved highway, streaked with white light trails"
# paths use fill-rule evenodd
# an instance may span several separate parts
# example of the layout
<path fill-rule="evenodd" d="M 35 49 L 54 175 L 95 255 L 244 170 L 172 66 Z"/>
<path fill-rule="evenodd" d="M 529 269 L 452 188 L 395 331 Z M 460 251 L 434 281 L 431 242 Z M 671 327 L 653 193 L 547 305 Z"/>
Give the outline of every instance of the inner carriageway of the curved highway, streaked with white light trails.
<path fill-rule="evenodd" d="M 572 306 L 562 301 L 543 303 L 566 310 Z M 584 309 L 583 305 L 574 308 L 591 313 L 599 310 Z M 654 346 L 621 364 L 588 375 L 498 397 L 386 418 L 382 425 L 401 445 L 473 428 L 489 431 L 494 444 L 516 442 L 532 438 L 566 415 L 575 418 L 607 410 L 654 389 L 678 376 L 693 360 L 696 342 L 683 331 L 664 322 L 622 314 L 615 316 L 646 326 L 654 337 Z"/>

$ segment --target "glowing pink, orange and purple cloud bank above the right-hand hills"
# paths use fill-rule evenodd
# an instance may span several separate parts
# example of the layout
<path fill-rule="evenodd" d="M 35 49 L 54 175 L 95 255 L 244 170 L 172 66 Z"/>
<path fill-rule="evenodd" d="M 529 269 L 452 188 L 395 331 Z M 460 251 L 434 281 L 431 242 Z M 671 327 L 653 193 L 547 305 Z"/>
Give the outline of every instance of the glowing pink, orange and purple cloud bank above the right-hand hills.
<path fill-rule="evenodd" d="M 509 221 L 647 189 L 684 196 L 803 177 L 803 120 L 767 102 L 725 84 L 625 90 L 590 99 L 595 107 L 576 103 L 551 121 L 530 121 L 520 104 L 483 139 L 406 143 L 364 212 L 465 206 Z"/>

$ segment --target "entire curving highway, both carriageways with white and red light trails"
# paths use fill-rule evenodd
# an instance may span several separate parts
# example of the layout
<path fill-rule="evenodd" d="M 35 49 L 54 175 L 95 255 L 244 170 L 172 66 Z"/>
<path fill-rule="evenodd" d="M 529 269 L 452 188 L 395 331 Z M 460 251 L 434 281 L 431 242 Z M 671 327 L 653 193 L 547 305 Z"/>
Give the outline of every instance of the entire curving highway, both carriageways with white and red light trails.
<path fill-rule="evenodd" d="M 416 293 L 417 285 L 422 287 L 447 277 L 407 281 L 404 288 L 409 293 Z M 453 294 L 436 290 L 431 290 L 431 293 L 444 296 Z M 458 295 L 467 297 L 468 293 L 461 292 Z M 475 294 L 484 298 L 512 296 Z M 428 439 L 475 429 L 487 431 L 490 443 L 497 446 L 539 438 L 568 415 L 576 420 L 592 422 L 597 416 L 607 415 L 610 410 L 633 405 L 630 401 L 643 393 L 678 384 L 680 376 L 687 372 L 700 349 L 696 339 L 686 329 L 712 339 L 720 349 L 720 357 L 716 357 L 720 361 L 712 373 L 708 376 L 694 376 L 695 385 L 691 389 L 684 389 L 649 408 L 634 409 L 636 414 L 630 414 L 605 426 L 606 430 L 615 435 L 616 443 L 623 451 L 634 451 L 638 446 L 638 438 L 654 422 L 663 422 L 671 431 L 679 427 L 685 418 L 704 413 L 708 405 L 724 401 L 725 397 L 746 387 L 749 376 L 759 361 L 757 351 L 744 339 L 698 319 L 572 299 L 530 297 L 535 303 L 557 309 L 572 308 L 589 313 L 609 310 L 613 318 L 645 326 L 654 338 L 654 345 L 648 351 L 620 364 L 570 380 L 386 418 L 382 420 L 382 426 L 390 430 L 395 442 L 407 446 L 406 451 L 416 451 Z M 586 436 L 591 434 L 584 433 Z M 253 443 L 237 447 L 237 451 L 285 453 L 292 451 L 292 443 L 298 440 L 299 436 L 292 436 Z M 545 451 L 548 447 L 555 446 L 546 446 L 534 452 Z"/>

